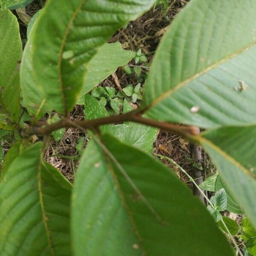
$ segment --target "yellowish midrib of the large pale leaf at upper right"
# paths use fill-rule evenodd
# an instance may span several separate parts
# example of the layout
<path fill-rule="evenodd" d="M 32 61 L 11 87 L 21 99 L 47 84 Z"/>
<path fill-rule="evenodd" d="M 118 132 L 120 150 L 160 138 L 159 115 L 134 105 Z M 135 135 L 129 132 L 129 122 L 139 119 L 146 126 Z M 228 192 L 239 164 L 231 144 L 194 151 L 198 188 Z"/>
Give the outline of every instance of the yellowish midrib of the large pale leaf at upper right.
<path fill-rule="evenodd" d="M 222 58 L 221 60 L 215 62 L 214 64 L 210 65 L 209 67 L 207 67 L 206 69 L 201 70 L 198 73 L 195 73 L 193 76 L 189 77 L 188 79 L 185 79 L 184 81 L 176 84 L 174 87 L 172 87 L 171 89 L 167 90 L 165 93 L 161 94 L 159 97 L 157 97 L 156 99 L 154 99 L 148 106 L 146 106 L 147 108 L 152 108 L 155 105 L 157 105 L 158 103 L 162 102 L 163 100 L 165 100 L 168 96 L 170 96 L 172 93 L 175 93 L 177 90 L 179 90 L 181 87 L 186 86 L 187 84 L 189 84 L 191 81 L 197 79 L 199 76 L 202 76 L 204 74 L 206 74 L 208 71 L 214 69 L 215 67 L 218 67 L 219 65 L 221 65 L 222 63 L 230 60 L 233 57 L 236 57 L 237 55 L 241 54 L 242 52 L 247 51 L 249 48 L 253 47 L 256 44 L 256 41 L 253 41 L 252 43 L 250 43 L 248 46 L 241 48 L 240 50 L 227 55 L 225 58 Z"/>

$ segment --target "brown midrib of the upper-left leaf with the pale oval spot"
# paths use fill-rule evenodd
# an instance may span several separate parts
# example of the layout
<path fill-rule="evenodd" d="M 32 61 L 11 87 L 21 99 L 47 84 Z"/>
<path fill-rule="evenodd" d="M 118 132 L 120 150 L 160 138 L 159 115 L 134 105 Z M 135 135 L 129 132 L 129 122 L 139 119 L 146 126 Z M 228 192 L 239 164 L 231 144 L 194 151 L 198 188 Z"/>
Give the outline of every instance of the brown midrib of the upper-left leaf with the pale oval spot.
<path fill-rule="evenodd" d="M 81 8 L 82 8 L 82 6 L 84 5 L 85 2 L 86 2 L 86 0 L 81 0 L 80 5 L 76 9 L 76 11 L 73 13 L 73 16 L 71 17 L 70 22 L 68 23 L 67 29 L 65 31 L 64 38 L 61 41 L 60 52 L 58 54 L 58 81 L 59 81 L 60 86 L 61 86 L 61 96 L 62 96 L 63 103 L 64 103 L 64 113 L 65 113 L 65 116 L 67 116 L 67 114 L 68 114 L 68 109 L 67 109 L 66 96 L 65 96 L 65 93 L 64 93 L 64 86 L 63 86 L 62 75 L 61 75 L 62 55 L 63 55 L 63 52 L 64 52 L 64 46 L 65 46 L 66 41 L 67 41 L 67 36 L 68 36 L 68 34 L 70 32 L 70 29 L 73 26 L 73 22 L 74 22 L 74 20 L 76 18 L 76 15 L 78 15 L 79 11 L 81 10 Z"/>

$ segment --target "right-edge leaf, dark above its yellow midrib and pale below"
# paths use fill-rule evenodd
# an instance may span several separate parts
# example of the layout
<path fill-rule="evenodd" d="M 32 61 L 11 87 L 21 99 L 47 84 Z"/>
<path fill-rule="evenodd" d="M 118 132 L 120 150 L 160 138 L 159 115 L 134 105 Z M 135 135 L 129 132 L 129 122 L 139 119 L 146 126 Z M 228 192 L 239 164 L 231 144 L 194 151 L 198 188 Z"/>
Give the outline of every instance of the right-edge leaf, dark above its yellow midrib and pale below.
<path fill-rule="evenodd" d="M 219 128 L 204 133 L 200 140 L 256 227 L 256 126 Z"/>

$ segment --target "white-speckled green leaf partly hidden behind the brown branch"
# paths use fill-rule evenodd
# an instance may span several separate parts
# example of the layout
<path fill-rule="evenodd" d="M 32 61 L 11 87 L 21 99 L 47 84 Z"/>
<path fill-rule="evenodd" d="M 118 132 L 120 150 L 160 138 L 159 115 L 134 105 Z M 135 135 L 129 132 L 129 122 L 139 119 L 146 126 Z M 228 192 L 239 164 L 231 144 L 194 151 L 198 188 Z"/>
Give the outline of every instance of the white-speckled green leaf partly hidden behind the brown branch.
<path fill-rule="evenodd" d="M 129 103 L 124 101 L 124 113 L 131 111 Z M 84 98 L 84 115 L 86 119 L 108 117 L 109 113 L 105 107 L 93 96 L 86 95 Z M 122 125 L 102 125 L 102 133 L 109 133 L 120 141 L 140 148 L 145 152 L 152 153 L 153 143 L 157 134 L 157 128 L 141 125 L 134 122 L 125 122 Z"/>

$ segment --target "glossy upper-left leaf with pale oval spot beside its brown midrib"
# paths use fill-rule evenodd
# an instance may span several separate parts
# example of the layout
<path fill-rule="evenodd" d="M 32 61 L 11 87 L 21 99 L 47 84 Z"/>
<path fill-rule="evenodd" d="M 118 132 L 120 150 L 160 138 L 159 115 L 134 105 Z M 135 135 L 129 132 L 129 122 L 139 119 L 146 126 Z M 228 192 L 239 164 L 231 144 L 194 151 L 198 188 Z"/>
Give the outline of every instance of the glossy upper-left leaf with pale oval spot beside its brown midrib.
<path fill-rule="evenodd" d="M 60 8 L 58 1 L 48 0 L 27 44 L 35 86 L 44 92 L 47 109 L 67 114 L 80 96 L 88 63 L 98 48 L 153 3 L 63 0 Z"/>

